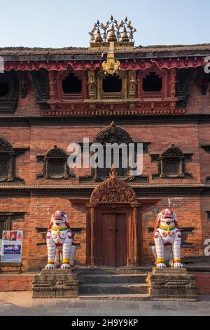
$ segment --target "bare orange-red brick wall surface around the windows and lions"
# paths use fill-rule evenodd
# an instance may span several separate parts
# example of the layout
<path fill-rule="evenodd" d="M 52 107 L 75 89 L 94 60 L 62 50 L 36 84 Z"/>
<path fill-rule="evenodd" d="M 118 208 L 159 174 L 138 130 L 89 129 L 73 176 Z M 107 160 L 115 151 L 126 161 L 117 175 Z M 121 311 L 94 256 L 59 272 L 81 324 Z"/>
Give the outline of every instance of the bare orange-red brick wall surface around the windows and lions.
<path fill-rule="evenodd" d="M 202 95 L 201 81 L 197 78 L 191 90 L 187 106 L 188 113 L 209 112 L 209 93 Z M 40 114 L 36 103 L 36 93 L 28 81 L 27 98 L 19 99 L 18 110 L 15 115 Z M 110 120 L 111 122 L 111 120 Z M 45 154 L 51 147 L 57 145 L 64 150 L 69 143 L 82 142 L 83 137 L 89 137 L 90 142 L 106 126 L 61 126 L 59 124 L 50 126 L 8 126 L 1 127 L 0 137 L 8 140 L 13 147 L 30 147 L 28 152 L 20 154 L 16 161 L 16 176 L 25 180 L 27 185 L 36 183 L 38 185 L 50 185 L 53 183 L 62 185 L 78 184 L 78 176 L 90 175 L 90 169 L 79 169 L 76 173 L 76 180 L 36 180 L 36 175 L 42 173 L 43 165 L 38 164 L 36 156 Z M 135 142 L 151 142 L 148 147 L 148 154 L 144 155 L 144 175 L 149 177 L 150 184 L 172 185 L 187 183 L 204 183 L 207 176 L 210 176 L 210 154 L 202 150 L 200 144 L 210 143 L 210 124 L 139 124 L 121 126 L 130 134 Z M 181 147 L 184 153 L 193 153 L 191 163 L 186 164 L 188 173 L 193 174 L 193 179 L 160 180 L 152 179 L 152 175 L 158 173 L 158 165 L 151 163 L 151 154 L 160 153 L 170 144 Z M 71 196 L 69 196 L 71 197 Z M 154 196 L 155 197 L 155 196 Z M 153 234 L 148 234 L 148 227 L 154 227 L 155 216 L 146 220 L 146 214 L 151 214 L 153 209 L 162 209 L 169 206 L 167 195 L 160 198 L 157 205 L 151 206 L 142 215 L 141 235 L 141 261 L 142 263 L 153 263 L 151 246 Z M 176 211 L 181 227 L 196 227 L 192 235 L 189 235 L 188 242 L 193 242 L 194 247 L 183 249 L 183 255 L 202 255 L 204 251 L 204 239 L 210 238 L 210 226 L 207 221 L 206 211 L 210 211 L 210 197 L 171 197 L 171 207 Z M 73 227 L 81 227 L 82 234 L 77 237 L 80 248 L 76 254 L 76 262 L 85 264 L 86 261 L 86 216 L 71 207 L 67 197 L 1 197 L 0 212 L 25 212 L 25 223 L 14 223 L 14 229 L 24 230 L 23 242 L 23 263 L 25 268 L 42 268 L 47 259 L 46 246 L 41 233 L 36 227 L 48 227 L 50 216 L 56 209 L 64 209 L 69 213 L 70 223 Z M 140 221 L 139 216 L 139 221 Z M 148 218 L 147 218 L 148 219 Z M 139 226 L 141 228 L 141 225 Z"/>

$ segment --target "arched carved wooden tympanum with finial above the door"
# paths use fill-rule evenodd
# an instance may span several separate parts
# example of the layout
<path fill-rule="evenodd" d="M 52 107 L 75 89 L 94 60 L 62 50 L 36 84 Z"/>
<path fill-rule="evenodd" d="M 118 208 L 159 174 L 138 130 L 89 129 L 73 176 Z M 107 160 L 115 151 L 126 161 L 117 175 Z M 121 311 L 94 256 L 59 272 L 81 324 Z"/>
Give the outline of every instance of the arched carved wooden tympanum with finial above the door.
<path fill-rule="evenodd" d="M 134 203 L 137 196 L 127 183 L 117 179 L 116 169 L 112 167 L 109 180 L 100 183 L 92 192 L 90 204 Z"/>

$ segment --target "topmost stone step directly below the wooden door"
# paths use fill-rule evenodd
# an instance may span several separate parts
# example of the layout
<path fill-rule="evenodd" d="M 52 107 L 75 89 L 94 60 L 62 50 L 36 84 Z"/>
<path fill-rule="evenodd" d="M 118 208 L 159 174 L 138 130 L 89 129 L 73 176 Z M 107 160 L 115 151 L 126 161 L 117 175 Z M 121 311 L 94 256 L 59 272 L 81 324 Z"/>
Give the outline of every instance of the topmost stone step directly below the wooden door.
<path fill-rule="evenodd" d="M 129 275 L 129 274 L 145 274 L 151 272 L 151 267 L 137 267 L 137 268 L 111 268 L 111 267 L 102 267 L 102 268 L 76 268 L 75 272 L 78 272 L 82 275 Z"/>

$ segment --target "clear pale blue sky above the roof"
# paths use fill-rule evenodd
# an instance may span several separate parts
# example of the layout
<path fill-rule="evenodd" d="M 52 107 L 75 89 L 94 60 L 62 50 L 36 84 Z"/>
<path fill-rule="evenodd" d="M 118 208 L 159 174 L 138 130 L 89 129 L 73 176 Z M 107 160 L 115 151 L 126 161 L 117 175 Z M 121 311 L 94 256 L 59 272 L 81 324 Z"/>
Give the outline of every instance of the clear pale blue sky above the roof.
<path fill-rule="evenodd" d="M 209 0 L 0 0 L 0 47 L 88 46 L 94 22 L 127 16 L 136 46 L 210 42 Z"/>

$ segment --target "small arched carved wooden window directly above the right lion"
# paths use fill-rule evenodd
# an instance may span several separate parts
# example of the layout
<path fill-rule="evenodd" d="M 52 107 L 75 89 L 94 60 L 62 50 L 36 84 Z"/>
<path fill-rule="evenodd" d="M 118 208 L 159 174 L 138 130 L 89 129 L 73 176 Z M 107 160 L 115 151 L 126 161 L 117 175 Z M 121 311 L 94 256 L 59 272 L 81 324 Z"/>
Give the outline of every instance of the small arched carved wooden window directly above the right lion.
<path fill-rule="evenodd" d="M 184 177 L 184 154 L 175 145 L 162 150 L 160 161 L 160 178 L 183 178 Z"/>

